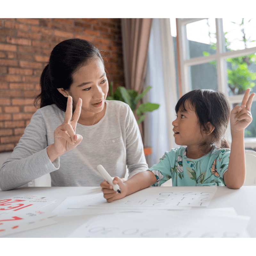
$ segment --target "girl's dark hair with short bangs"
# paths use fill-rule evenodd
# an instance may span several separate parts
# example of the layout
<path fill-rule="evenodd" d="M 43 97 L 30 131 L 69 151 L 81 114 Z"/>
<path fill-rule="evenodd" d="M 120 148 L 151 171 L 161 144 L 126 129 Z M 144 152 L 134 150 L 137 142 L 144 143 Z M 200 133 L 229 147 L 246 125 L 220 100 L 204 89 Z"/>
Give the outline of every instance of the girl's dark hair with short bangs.
<path fill-rule="evenodd" d="M 179 109 L 187 111 L 185 102 L 190 103 L 196 112 L 198 122 L 200 124 L 200 132 L 202 130 L 209 132 L 210 122 L 214 130 L 206 137 L 206 140 L 199 144 L 199 148 L 204 154 L 207 154 L 214 145 L 218 148 L 229 148 L 228 142 L 223 138 L 229 122 L 230 105 L 228 97 L 214 90 L 194 90 L 184 94 L 175 106 L 176 114 Z"/>

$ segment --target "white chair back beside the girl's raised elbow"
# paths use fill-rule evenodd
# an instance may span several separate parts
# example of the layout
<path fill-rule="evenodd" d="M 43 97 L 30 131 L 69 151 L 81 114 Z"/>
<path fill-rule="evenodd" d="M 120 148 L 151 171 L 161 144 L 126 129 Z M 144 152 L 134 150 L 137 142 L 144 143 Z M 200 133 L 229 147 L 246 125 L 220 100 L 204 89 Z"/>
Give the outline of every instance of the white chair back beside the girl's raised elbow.
<path fill-rule="evenodd" d="M 244 186 L 256 186 L 256 152 L 245 150 L 246 177 Z"/>

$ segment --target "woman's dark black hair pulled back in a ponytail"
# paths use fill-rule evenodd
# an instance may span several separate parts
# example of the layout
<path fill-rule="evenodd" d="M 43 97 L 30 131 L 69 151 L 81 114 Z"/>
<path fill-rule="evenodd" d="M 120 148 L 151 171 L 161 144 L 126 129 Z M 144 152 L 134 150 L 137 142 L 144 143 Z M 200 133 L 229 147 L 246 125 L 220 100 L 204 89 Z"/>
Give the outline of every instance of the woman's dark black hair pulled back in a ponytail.
<path fill-rule="evenodd" d="M 34 105 L 40 100 L 40 108 L 56 104 L 58 108 L 66 111 L 68 98 L 57 88 L 68 90 L 73 83 L 72 75 L 95 57 L 99 57 L 104 66 L 98 48 L 89 41 L 74 38 L 57 44 L 40 77 L 41 93 L 36 96 Z"/>

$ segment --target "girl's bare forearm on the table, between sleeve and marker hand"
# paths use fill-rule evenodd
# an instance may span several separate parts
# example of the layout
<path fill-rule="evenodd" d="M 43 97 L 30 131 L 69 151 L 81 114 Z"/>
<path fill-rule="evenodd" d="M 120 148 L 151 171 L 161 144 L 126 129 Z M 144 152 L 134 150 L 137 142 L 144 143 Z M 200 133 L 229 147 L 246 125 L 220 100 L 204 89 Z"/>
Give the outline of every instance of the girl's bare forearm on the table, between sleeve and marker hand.
<path fill-rule="evenodd" d="M 139 172 L 124 182 L 127 186 L 126 196 L 131 195 L 132 193 L 135 193 L 143 188 L 148 188 L 156 183 L 156 181 L 157 179 L 153 172 Z"/>

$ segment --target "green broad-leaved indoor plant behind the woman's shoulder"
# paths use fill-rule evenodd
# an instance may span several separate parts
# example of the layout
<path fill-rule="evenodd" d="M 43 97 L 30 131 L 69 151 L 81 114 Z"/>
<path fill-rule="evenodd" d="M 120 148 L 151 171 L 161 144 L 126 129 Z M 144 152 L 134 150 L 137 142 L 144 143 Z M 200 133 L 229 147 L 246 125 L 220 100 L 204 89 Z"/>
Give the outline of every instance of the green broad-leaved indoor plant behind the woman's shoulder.
<path fill-rule="evenodd" d="M 110 96 L 106 98 L 106 100 L 120 100 L 127 103 L 132 112 L 136 112 L 138 116 L 137 123 L 140 124 L 144 121 L 147 112 L 152 112 L 159 108 L 159 104 L 156 103 L 141 103 L 136 109 L 139 101 L 145 96 L 145 94 L 151 89 L 151 86 L 148 86 L 141 94 L 136 92 L 135 90 L 126 90 L 123 86 L 119 86 L 116 88 L 115 93 L 113 93 L 113 82 L 110 83 L 109 91 Z"/>

